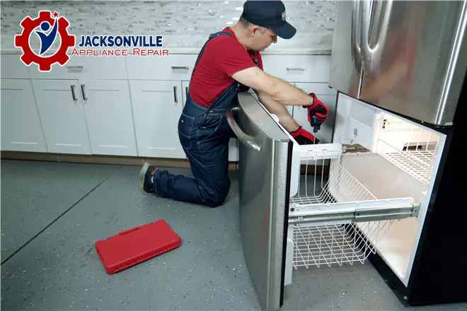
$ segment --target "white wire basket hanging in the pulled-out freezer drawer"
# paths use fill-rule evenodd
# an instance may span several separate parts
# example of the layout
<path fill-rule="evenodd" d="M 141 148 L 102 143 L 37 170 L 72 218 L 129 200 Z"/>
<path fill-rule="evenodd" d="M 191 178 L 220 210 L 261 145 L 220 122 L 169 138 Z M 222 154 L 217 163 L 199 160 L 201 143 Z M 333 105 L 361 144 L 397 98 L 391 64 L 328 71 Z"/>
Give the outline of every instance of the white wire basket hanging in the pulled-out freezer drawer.
<path fill-rule="evenodd" d="M 301 154 L 302 164 L 308 164 L 307 168 L 314 165 L 314 168 L 311 174 L 306 170 L 300 177 L 299 192 L 291 198 L 294 210 L 317 207 L 325 210 L 340 203 L 377 200 L 340 165 L 340 157 L 341 153 L 325 154 L 313 149 Z M 294 242 L 294 269 L 336 264 L 342 266 L 354 262 L 364 264 L 369 254 L 376 252 L 377 243 L 388 233 L 391 223 L 392 220 L 290 225 Z"/>

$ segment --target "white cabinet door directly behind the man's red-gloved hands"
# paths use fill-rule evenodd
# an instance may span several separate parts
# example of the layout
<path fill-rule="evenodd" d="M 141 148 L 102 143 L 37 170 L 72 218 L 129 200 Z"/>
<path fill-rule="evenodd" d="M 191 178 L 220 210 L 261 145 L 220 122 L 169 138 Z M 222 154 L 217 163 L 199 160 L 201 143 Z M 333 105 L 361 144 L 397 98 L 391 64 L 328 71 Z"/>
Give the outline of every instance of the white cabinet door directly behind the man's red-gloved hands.
<path fill-rule="evenodd" d="M 335 122 L 336 90 L 328 88 L 327 83 L 295 83 L 297 88 L 301 88 L 306 93 L 315 93 L 316 97 L 328 107 L 329 114 L 321 129 L 316 133 L 320 143 L 331 143 L 333 140 L 333 128 Z M 308 121 L 308 110 L 301 106 L 294 106 L 294 119 L 307 131 L 313 133 L 313 128 Z"/>

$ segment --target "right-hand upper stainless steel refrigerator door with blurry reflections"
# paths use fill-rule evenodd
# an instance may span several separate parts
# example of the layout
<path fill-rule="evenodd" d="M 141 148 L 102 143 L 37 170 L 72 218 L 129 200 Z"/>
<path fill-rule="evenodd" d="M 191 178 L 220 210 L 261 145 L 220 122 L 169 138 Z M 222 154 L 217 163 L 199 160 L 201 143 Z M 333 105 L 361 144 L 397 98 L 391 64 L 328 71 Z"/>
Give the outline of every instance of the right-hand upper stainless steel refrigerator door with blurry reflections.
<path fill-rule="evenodd" d="M 362 8 L 360 99 L 451 125 L 467 69 L 466 2 L 362 1 Z"/>

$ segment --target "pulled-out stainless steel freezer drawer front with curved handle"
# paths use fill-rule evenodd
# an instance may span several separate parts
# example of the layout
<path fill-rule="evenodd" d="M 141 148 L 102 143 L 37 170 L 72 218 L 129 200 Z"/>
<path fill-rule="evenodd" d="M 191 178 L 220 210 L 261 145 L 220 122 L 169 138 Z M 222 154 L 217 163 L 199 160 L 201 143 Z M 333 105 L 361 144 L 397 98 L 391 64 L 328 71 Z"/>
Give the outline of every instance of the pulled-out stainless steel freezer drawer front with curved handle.
<path fill-rule="evenodd" d="M 261 306 L 277 310 L 284 291 L 292 141 L 255 98 L 244 93 L 238 99 L 240 105 L 227 112 L 227 120 L 241 141 L 243 253 Z"/>

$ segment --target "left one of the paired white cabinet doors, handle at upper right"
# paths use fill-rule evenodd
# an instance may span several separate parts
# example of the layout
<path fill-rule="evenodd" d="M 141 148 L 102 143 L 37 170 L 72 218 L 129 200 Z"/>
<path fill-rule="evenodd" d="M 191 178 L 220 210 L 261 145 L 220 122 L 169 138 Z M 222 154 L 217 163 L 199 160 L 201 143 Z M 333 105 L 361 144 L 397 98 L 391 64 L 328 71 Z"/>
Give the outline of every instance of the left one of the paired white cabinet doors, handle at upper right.
<path fill-rule="evenodd" d="M 91 154 L 76 80 L 33 80 L 42 129 L 51 153 Z"/>

